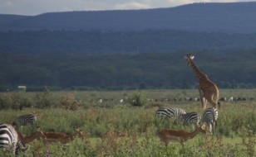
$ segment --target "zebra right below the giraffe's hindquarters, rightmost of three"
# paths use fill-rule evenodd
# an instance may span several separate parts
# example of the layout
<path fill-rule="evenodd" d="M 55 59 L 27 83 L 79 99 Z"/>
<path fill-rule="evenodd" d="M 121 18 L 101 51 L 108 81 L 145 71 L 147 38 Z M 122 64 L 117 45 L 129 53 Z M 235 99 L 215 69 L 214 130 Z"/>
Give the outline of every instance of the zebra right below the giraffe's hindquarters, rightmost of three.
<path fill-rule="evenodd" d="M 214 133 L 215 125 L 217 126 L 218 110 L 214 107 L 206 108 L 203 112 L 202 121 L 209 126 L 209 132 Z"/>

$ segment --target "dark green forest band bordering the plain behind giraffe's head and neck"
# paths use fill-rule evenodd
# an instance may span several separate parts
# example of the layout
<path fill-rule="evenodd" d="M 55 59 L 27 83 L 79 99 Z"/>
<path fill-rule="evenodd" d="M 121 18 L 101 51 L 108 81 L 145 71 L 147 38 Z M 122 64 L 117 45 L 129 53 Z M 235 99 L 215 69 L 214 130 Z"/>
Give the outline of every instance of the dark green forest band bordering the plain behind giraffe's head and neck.
<path fill-rule="evenodd" d="M 256 50 L 180 50 L 174 53 L 0 53 L 1 91 L 198 88 L 185 55 L 219 88 L 256 88 Z"/>

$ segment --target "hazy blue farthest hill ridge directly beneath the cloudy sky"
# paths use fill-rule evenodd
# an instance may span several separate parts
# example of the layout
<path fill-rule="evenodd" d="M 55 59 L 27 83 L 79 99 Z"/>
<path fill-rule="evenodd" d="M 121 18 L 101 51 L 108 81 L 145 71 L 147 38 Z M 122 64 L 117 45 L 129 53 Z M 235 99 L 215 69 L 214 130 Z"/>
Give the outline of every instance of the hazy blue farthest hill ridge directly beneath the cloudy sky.
<path fill-rule="evenodd" d="M 173 29 L 256 33 L 256 2 L 193 3 L 145 10 L 49 12 L 37 16 L 0 15 L 0 31 L 141 31 Z"/>

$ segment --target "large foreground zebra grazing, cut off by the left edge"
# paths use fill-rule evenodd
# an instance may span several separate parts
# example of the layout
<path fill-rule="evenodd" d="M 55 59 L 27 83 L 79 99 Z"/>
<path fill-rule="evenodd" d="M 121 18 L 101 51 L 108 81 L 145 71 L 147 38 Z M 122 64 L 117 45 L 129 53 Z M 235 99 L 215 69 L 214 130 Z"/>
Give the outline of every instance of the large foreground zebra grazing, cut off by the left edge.
<path fill-rule="evenodd" d="M 12 148 L 14 155 L 18 155 L 18 150 L 23 152 L 27 150 L 19 139 L 17 131 L 9 124 L 0 124 L 0 148 Z"/>

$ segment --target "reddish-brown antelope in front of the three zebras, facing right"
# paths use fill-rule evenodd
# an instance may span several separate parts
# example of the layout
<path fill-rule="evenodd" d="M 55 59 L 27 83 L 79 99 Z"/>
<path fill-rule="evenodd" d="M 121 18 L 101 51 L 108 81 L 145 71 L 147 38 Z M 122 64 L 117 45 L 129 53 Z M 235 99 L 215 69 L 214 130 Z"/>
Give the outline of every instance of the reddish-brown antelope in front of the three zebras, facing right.
<path fill-rule="evenodd" d="M 164 129 L 159 132 L 158 136 L 160 137 L 160 140 L 165 142 L 166 147 L 168 146 L 170 140 L 179 141 L 180 145 L 184 147 L 185 142 L 189 139 L 194 138 L 194 136 L 196 136 L 199 132 L 202 132 L 204 134 L 206 133 L 205 125 L 197 126 L 193 132 L 187 132 L 183 130 Z"/>

